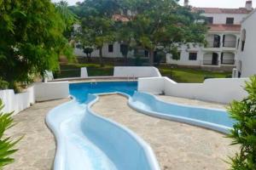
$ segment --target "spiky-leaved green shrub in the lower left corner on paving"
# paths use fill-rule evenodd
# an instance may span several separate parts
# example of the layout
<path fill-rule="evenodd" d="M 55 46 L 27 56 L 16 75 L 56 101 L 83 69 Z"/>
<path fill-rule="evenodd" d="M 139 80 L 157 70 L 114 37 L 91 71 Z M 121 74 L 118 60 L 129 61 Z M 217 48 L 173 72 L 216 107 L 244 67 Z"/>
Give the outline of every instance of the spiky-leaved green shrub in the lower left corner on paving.
<path fill-rule="evenodd" d="M 21 139 L 13 141 L 10 137 L 5 136 L 6 130 L 14 126 L 14 120 L 11 117 L 12 113 L 3 113 L 2 110 L 3 103 L 0 99 L 0 169 L 15 161 L 10 156 L 17 151 L 14 146 Z"/>

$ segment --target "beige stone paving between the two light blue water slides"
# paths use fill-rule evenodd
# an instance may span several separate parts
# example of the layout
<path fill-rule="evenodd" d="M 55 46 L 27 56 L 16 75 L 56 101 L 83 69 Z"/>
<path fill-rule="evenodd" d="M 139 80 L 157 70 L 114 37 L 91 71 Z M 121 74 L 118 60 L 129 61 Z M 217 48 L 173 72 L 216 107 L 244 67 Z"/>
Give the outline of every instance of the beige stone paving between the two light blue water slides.
<path fill-rule="evenodd" d="M 188 102 L 188 100 L 185 100 Z M 224 170 L 237 149 L 224 134 L 146 116 L 131 110 L 119 94 L 103 95 L 93 111 L 129 127 L 154 150 L 162 170 Z"/>

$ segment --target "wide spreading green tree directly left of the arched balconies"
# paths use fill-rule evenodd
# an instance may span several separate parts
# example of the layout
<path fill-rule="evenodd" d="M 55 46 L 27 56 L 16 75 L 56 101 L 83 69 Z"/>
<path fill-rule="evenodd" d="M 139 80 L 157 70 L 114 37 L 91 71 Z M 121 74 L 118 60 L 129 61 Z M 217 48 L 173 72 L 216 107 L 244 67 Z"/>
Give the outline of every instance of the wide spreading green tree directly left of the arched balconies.
<path fill-rule="evenodd" d="M 149 52 L 149 63 L 154 63 L 154 51 L 171 52 L 180 44 L 203 43 L 207 26 L 201 16 L 176 0 L 137 0 L 137 15 L 132 19 L 132 30 L 137 44 Z"/>

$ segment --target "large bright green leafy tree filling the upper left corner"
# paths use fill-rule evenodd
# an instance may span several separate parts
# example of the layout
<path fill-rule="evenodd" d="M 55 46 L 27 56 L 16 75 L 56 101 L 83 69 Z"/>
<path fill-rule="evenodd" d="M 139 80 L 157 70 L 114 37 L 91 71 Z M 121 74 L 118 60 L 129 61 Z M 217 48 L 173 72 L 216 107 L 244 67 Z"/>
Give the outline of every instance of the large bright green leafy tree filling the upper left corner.
<path fill-rule="evenodd" d="M 0 1 L 0 77 L 10 88 L 45 70 L 58 70 L 61 54 L 72 59 L 73 49 L 63 36 L 66 26 L 50 0 Z"/>

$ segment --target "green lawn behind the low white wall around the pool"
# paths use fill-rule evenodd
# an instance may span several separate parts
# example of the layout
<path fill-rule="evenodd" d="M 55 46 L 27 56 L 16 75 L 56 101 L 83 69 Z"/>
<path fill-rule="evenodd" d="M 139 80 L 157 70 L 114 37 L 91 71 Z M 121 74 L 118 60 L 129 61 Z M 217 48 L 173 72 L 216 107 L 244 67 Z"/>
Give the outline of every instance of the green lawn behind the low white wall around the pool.
<path fill-rule="evenodd" d="M 99 64 L 65 64 L 61 65 L 61 72 L 55 76 L 63 77 L 80 77 L 80 67 L 87 67 L 90 77 L 112 76 L 113 64 L 106 63 L 104 67 Z M 201 71 L 198 69 L 188 68 L 171 68 L 170 66 L 160 66 L 162 76 L 170 77 L 175 82 L 204 82 L 205 77 L 224 78 L 230 76 L 230 72 Z"/>

